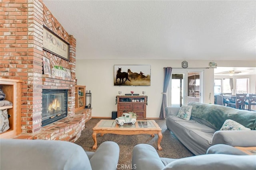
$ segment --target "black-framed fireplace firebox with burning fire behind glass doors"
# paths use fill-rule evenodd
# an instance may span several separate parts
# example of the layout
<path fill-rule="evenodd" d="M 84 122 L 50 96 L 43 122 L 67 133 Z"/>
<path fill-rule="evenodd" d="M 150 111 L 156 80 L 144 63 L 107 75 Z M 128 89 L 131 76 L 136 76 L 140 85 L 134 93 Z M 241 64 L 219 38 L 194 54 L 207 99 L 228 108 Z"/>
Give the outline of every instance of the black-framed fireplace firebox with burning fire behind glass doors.
<path fill-rule="evenodd" d="M 68 115 L 68 90 L 43 89 L 42 127 Z"/>

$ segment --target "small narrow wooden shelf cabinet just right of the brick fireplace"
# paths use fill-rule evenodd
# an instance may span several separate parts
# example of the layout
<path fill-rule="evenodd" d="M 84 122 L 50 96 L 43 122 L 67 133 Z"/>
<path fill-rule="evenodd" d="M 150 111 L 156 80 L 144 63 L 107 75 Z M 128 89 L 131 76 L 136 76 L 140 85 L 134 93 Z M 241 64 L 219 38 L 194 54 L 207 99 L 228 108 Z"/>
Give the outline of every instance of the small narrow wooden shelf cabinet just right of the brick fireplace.
<path fill-rule="evenodd" d="M 75 111 L 84 109 L 85 107 L 85 88 L 86 86 L 76 85 L 75 90 Z"/>

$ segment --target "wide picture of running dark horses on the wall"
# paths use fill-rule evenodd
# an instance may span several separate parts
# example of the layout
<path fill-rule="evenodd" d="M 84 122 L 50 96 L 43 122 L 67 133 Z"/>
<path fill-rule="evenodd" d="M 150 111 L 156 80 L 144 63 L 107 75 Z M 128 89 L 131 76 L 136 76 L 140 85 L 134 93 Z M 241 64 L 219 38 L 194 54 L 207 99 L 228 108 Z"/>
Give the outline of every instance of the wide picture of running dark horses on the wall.
<path fill-rule="evenodd" d="M 150 65 L 114 65 L 114 86 L 150 86 Z"/>

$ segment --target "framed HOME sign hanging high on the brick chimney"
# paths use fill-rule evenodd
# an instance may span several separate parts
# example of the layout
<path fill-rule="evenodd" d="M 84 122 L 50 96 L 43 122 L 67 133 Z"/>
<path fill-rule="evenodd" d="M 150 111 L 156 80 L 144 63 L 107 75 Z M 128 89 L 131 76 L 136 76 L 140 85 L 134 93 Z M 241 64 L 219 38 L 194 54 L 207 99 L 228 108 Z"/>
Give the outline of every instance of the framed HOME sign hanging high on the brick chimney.
<path fill-rule="evenodd" d="M 43 49 L 69 61 L 70 44 L 43 25 Z"/>

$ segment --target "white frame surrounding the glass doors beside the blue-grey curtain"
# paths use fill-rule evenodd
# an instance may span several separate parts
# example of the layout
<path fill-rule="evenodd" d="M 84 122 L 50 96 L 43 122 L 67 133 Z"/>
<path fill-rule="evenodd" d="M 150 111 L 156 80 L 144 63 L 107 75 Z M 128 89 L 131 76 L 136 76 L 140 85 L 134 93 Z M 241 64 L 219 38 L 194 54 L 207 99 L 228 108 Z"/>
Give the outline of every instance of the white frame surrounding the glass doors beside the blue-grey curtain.
<path fill-rule="evenodd" d="M 184 74 L 183 79 L 183 104 L 187 104 L 188 102 L 188 72 L 199 72 L 200 73 L 200 98 L 199 102 L 204 101 L 204 69 L 203 68 L 172 68 L 172 74 Z M 171 76 L 172 77 L 172 76 Z M 170 87 L 170 88 L 169 88 Z M 166 100 L 167 106 L 172 106 L 172 81 L 170 80 L 167 93 Z"/>

